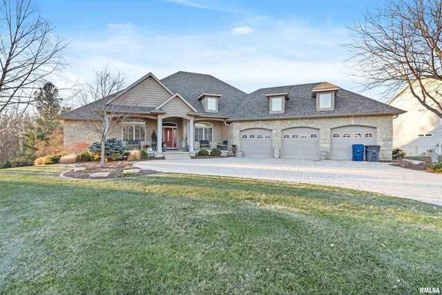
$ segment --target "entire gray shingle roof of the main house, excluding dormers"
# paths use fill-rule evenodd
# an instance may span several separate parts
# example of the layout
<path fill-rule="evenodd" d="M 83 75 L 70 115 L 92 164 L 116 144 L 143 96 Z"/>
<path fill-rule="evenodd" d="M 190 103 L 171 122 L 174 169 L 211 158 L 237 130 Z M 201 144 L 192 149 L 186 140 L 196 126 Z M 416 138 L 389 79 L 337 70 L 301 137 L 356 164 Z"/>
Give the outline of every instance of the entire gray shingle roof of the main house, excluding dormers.
<path fill-rule="evenodd" d="M 165 77 L 161 82 L 173 93 L 180 93 L 199 113 L 209 116 L 228 117 L 231 120 L 404 113 L 404 111 L 398 108 L 388 106 L 343 88 L 340 88 L 336 93 L 334 110 L 316 111 L 316 98 L 312 97 L 311 93 L 313 88 L 322 82 L 261 88 L 250 94 L 244 93 L 238 88 L 222 82 L 211 75 L 198 73 L 177 72 L 169 77 Z M 218 113 L 204 111 L 201 101 L 198 100 L 202 93 L 222 95 L 218 101 Z M 269 99 L 265 97 L 269 93 L 289 93 L 290 99 L 287 100 L 285 113 L 269 113 Z M 114 95 L 117 95 L 117 93 L 99 99 L 97 102 L 76 108 L 61 116 L 60 119 L 94 119 L 91 116 L 96 116 L 95 118 L 99 119 L 90 110 L 99 108 L 99 106 L 102 106 L 103 101 L 111 99 Z M 137 113 L 150 113 L 153 109 L 153 107 L 137 107 Z M 122 107 L 122 111 L 124 110 L 125 108 Z"/>

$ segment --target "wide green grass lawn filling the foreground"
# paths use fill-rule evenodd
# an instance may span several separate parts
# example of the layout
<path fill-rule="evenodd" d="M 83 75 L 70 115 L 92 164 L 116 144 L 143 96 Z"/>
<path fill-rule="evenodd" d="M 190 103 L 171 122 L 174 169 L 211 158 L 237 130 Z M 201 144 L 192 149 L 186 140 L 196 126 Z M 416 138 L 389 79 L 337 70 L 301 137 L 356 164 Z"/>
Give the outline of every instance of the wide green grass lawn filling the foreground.
<path fill-rule="evenodd" d="M 164 173 L 69 181 L 64 170 L 0 171 L 0 294 L 442 287 L 442 209 L 432 204 Z"/>

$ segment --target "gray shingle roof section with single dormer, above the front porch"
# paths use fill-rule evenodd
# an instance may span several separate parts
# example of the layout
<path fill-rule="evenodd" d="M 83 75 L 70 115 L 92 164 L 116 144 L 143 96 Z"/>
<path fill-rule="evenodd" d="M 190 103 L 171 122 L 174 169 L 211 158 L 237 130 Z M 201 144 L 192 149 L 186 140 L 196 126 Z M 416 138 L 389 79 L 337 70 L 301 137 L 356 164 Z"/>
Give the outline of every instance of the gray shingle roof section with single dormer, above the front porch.
<path fill-rule="evenodd" d="M 180 93 L 189 104 L 204 115 L 229 117 L 247 95 L 247 93 L 240 91 L 238 88 L 226 82 L 222 82 L 212 75 L 177 72 L 161 79 L 161 82 L 173 93 Z M 221 95 L 218 99 L 218 113 L 204 111 L 201 101 L 198 100 L 198 97 L 200 97 L 202 93 Z"/>

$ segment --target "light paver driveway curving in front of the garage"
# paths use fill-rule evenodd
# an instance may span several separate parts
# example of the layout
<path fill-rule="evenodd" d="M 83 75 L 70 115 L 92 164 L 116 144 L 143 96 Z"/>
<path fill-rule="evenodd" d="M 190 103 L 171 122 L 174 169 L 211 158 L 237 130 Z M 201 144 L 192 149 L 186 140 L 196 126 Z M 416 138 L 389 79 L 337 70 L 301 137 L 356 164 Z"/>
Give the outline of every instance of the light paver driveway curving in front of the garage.
<path fill-rule="evenodd" d="M 134 166 L 163 172 L 331 185 L 442 205 L 442 175 L 380 162 L 216 158 L 145 161 Z"/>

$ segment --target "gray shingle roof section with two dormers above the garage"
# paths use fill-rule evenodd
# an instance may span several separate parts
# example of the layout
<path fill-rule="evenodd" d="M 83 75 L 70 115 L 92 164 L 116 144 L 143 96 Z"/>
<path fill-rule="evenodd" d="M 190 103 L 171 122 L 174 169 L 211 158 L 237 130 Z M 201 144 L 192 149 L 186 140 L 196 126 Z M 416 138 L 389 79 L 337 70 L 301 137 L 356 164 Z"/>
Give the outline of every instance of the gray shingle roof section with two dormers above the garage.
<path fill-rule="evenodd" d="M 235 120 L 269 117 L 321 117 L 329 115 L 403 113 L 398 108 L 387 106 L 387 104 L 343 88 L 340 88 L 335 95 L 334 110 L 316 111 L 316 98 L 311 97 L 311 91 L 319 84 L 321 82 L 258 89 L 247 95 L 241 106 L 230 118 Z M 270 114 L 269 99 L 265 95 L 268 93 L 285 92 L 290 95 L 290 99 L 286 101 L 285 113 Z"/>

